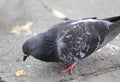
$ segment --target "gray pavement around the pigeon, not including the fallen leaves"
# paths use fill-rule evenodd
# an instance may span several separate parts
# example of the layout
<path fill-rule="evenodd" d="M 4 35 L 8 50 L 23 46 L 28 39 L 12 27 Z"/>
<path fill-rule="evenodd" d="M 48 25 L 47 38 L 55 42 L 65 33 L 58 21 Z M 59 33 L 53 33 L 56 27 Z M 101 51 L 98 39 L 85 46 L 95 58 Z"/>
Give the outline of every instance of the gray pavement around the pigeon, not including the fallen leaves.
<path fill-rule="evenodd" d="M 120 15 L 120 0 L 44 0 L 71 19 Z M 66 64 L 46 63 L 29 57 L 22 61 L 21 46 L 30 36 L 13 35 L 15 25 L 33 22 L 32 31 L 40 33 L 62 22 L 41 4 L 41 0 L 0 0 L 0 80 L 6 82 L 120 82 L 120 39 L 114 39 L 102 52 L 82 60 L 73 74 L 60 73 Z M 120 36 L 118 36 L 120 37 Z M 27 74 L 16 77 L 23 69 Z M 2 81 L 0 81 L 2 82 Z"/>

